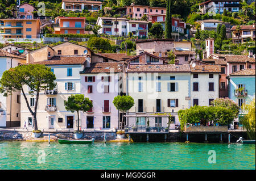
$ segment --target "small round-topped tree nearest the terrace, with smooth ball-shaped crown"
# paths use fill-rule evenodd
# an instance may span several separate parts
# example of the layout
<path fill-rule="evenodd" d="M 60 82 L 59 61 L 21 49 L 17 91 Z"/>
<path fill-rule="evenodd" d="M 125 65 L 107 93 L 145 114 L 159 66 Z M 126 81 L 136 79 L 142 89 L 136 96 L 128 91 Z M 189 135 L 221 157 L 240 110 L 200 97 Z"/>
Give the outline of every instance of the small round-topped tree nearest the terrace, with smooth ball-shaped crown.
<path fill-rule="evenodd" d="M 123 112 L 134 106 L 134 99 L 130 95 L 118 95 L 114 97 L 113 104 L 117 110 L 122 111 L 121 131 L 123 130 Z"/>

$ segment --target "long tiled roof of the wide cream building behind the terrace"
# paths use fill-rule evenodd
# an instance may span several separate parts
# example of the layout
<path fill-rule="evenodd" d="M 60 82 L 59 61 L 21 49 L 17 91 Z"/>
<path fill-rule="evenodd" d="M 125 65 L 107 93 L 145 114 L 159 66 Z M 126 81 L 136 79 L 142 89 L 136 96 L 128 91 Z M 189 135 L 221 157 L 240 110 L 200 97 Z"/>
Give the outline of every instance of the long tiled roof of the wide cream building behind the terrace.
<path fill-rule="evenodd" d="M 130 65 L 130 67 L 126 70 L 129 72 L 163 72 L 163 73 L 190 73 L 189 65 L 174 65 L 174 64 L 166 64 L 166 65 Z"/>

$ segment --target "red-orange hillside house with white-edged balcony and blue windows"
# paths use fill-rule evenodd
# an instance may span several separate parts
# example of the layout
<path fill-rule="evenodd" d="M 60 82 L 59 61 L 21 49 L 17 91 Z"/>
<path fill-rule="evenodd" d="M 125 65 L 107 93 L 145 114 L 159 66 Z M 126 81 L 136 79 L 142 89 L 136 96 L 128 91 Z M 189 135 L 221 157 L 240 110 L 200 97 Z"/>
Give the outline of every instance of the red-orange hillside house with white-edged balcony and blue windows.
<path fill-rule="evenodd" d="M 57 17 L 55 18 L 55 34 L 84 34 L 84 17 Z"/>

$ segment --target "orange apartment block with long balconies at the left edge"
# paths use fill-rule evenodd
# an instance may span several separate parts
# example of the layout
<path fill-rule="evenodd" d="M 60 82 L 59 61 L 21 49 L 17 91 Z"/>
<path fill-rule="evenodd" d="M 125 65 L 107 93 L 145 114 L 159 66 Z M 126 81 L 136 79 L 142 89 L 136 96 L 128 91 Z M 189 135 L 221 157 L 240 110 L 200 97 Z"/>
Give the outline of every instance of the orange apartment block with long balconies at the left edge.
<path fill-rule="evenodd" d="M 0 19 L 0 35 L 3 38 L 40 38 L 39 19 Z"/>

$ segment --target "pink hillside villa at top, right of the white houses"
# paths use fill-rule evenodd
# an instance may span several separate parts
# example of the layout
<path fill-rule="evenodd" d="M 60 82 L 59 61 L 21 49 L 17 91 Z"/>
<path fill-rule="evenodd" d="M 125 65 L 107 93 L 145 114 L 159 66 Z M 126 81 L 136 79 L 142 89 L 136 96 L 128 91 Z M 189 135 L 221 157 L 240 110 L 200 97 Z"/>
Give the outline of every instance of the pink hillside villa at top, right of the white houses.
<path fill-rule="evenodd" d="M 150 7 L 142 5 L 126 6 L 126 14 L 129 18 L 141 19 L 143 15 L 147 15 L 148 20 L 151 20 L 151 15 L 166 14 L 165 7 Z"/>

